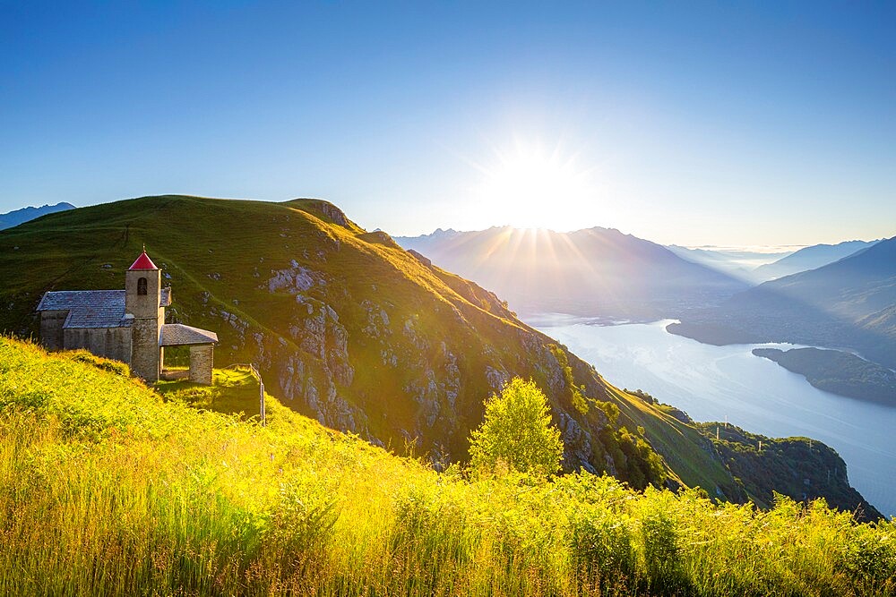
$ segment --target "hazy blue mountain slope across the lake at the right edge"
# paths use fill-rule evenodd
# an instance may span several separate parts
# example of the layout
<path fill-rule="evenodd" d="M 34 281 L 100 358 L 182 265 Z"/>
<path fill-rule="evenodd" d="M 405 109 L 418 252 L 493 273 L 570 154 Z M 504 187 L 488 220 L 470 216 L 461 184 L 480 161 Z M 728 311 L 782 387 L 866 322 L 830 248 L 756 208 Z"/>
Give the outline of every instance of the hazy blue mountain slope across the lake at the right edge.
<path fill-rule="evenodd" d="M 780 341 L 857 350 L 896 368 L 896 237 L 689 313 L 669 331 L 712 344 Z"/>

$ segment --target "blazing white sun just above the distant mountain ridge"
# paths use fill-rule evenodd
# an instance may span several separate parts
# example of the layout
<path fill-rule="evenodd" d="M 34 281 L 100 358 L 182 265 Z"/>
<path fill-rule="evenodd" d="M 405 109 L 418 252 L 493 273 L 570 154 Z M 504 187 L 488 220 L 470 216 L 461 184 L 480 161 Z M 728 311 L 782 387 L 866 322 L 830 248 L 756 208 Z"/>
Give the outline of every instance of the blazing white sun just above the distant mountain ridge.
<path fill-rule="evenodd" d="M 483 215 L 519 228 L 571 230 L 582 227 L 582 214 L 597 197 L 594 168 L 583 168 L 576 154 L 559 144 L 516 140 L 494 149 L 474 189 Z"/>

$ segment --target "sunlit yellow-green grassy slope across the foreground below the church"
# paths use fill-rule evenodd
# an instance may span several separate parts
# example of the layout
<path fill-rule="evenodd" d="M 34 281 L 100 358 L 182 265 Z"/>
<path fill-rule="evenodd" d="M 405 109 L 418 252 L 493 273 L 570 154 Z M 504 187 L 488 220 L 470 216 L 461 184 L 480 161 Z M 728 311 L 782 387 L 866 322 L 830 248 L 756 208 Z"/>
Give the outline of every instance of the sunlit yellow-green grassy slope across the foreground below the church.
<path fill-rule="evenodd" d="M 0 593 L 896 591 L 896 526 L 820 501 L 435 473 L 272 398 L 262 428 L 121 372 L 0 340 Z"/>

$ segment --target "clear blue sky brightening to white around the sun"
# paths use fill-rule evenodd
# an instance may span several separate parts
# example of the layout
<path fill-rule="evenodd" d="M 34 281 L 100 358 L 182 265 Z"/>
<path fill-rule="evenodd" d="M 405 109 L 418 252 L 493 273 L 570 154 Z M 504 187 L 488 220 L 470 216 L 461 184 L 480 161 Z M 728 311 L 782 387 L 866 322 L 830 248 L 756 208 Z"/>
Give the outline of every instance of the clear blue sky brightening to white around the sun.
<path fill-rule="evenodd" d="M 0 0 L 0 212 L 166 192 L 392 235 L 896 235 L 896 3 Z"/>

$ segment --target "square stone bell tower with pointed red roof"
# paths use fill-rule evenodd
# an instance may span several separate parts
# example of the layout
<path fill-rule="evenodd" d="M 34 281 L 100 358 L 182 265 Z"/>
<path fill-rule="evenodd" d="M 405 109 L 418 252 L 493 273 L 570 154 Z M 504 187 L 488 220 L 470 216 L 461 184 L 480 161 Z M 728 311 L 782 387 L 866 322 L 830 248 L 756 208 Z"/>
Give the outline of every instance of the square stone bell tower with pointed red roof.
<path fill-rule="evenodd" d="M 159 380 L 159 333 L 165 323 L 161 306 L 162 273 L 146 254 L 146 247 L 125 271 L 125 317 L 131 324 L 131 371 L 150 382 Z"/>

